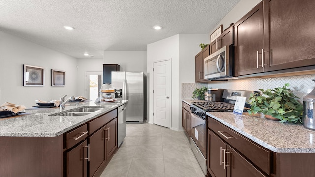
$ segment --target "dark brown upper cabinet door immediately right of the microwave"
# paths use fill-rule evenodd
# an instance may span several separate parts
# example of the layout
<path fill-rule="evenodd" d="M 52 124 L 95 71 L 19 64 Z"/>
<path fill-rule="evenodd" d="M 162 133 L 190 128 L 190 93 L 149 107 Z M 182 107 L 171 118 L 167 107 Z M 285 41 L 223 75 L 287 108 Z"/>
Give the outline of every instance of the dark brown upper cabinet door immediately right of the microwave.
<path fill-rule="evenodd" d="M 235 23 L 236 76 L 264 71 L 261 65 L 261 51 L 264 48 L 262 3 Z"/>

